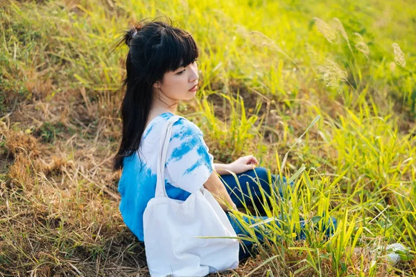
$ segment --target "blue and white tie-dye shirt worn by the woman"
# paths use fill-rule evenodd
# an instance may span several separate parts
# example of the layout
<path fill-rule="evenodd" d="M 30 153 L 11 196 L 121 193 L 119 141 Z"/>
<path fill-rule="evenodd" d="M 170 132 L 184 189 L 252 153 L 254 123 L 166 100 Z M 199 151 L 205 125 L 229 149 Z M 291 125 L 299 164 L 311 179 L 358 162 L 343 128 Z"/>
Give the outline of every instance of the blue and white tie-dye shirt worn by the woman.
<path fill-rule="evenodd" d="M 165 112 L 150 121 L 141 138 L 138 152 L 123 160 L 119 181 L 119 205 L 125 225 L 144 241 L 143 213 L 148 201 L 155 197 L 156 168 L 162 126 L 173 116 Z M 140 159 L 139 159 L 139 157 Z M 201 130 L 186 118 L 172 127 L 165 165 L 168 197 L 185 200 L 207 181 L 214 170 L 214 161 Z"/>

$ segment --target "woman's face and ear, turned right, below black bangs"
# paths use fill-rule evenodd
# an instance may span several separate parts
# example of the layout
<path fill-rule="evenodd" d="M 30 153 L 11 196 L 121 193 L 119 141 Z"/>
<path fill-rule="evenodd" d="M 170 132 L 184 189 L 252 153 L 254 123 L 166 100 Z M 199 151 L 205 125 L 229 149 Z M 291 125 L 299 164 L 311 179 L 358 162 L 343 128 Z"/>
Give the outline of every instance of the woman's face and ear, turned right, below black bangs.
<path fill-rule="evenodd" d="M 171 102 L 190 100 L 196 95 L 198 78 L 198 65 L 195 61 L 175 71 L 166 72 L 162 82 L 156 82 L 153 87 L 155 87 L 156 93 L 162 92 L 159 93 L 160 98 L 167 98 L 166 100 Z"/>

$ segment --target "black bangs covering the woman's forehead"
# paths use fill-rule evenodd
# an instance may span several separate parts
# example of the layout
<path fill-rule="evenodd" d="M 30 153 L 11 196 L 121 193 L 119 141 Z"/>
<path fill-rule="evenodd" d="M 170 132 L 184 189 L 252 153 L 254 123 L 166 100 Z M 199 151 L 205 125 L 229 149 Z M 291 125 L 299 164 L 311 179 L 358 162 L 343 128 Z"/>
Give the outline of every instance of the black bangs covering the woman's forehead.
<path fill-rule="evenodd" d="M 163 49 L 160 53 L 162 71 L 175 71 L 198 58 L 198 46 L 191 34 L 177 28 L 165 30 L 161 43 Z"/>

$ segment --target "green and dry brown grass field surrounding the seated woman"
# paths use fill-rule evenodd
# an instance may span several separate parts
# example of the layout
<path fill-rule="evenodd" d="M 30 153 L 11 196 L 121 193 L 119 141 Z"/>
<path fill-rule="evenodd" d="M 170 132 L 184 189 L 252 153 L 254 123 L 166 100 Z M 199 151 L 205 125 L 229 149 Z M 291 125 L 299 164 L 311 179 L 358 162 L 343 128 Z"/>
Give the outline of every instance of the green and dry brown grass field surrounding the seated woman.
<path fill-rule="evenodd" d="M 259 255 L 218 276 L 416 276 L 416 2 L 405 0 L 0 0 L 0 276 L 148 275 L 112 172 L 128 48 L 110 48 L 158 15 L 202 51 L 200 89 L 179 114 L 215 161 L 254 154 L 295 182 L 266 208 L 285 220 L 264 224 Z M 306 240 L 294 238 L 300 216 Z M 407 250 L 392 264 L 395 242 Z"/>

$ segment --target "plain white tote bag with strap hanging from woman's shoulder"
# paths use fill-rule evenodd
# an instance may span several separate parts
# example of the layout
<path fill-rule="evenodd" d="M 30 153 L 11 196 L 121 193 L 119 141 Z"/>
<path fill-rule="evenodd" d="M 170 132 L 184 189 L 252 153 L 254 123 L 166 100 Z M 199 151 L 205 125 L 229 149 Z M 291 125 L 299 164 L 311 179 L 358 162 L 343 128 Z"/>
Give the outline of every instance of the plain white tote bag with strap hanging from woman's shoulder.
<path fill-rule="evenodd" d="M 143 215 L 146 260 L 151 276 L 206 276 L 215 271 L 239 267 L 239 240 L 196 238 L 236 237 L 225 211 L 201 184 L 185 201 L 166 195 L 164 169 L 172 125 L 180 116 L 169 118 L 162 128 L 157 161 L 155 198 Z"/>

